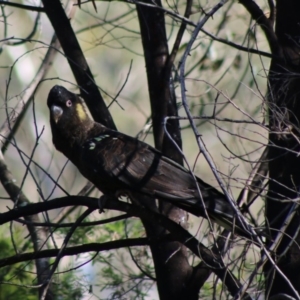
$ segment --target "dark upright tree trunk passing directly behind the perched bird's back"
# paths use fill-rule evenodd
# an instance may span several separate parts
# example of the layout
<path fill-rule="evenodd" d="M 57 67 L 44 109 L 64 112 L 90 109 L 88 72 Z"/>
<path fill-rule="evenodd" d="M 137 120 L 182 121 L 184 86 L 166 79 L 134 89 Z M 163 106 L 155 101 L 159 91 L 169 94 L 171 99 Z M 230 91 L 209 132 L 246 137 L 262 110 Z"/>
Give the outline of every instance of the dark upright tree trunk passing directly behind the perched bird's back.
<path fill-rule="evenodd" d="M 150 3 L 152 2 L 150 1 Z M 161 6 L 160 1 L 157 1 L 156 4 Z M 137 12 L 146 62 L 155 147 L 161 150 L 164 155 L 182 164 L 182 156 L 173 142 L 166 136 L 163 126 L 165 117 L 177 116 L 177 104 L 171 74 L 166 74 L 169 70 L 166 68 L 169 49 L 164 13 L 159 9 L 142 5 L 137 6 Z M 181 148 L 179 121 L 169 121 L 167 130 Z M 187 213 L 185 211 L 168 203 L 160 203 L 159 209 L 173 221 L 180 223 L 183 227 L 186 226 Z M 143 221 L 143 224 L 150 239 L 168 234 L 165 229 L 153 222 Z M 198 299 L 199 288 L 187 288 L 194 274 L 193 268 L 188 262 L 186 247 L 179 242 L 168 242 L 150 247 L 160 299 Z"/>

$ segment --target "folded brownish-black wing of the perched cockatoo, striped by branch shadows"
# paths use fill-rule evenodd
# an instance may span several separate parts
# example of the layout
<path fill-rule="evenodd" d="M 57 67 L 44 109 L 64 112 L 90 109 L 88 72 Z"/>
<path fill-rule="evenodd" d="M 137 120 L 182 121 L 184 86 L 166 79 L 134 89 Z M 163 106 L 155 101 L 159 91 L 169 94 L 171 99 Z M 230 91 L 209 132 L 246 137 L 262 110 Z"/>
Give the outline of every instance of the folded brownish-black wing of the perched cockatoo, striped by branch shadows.
<path fill-rule="evenodd" d="M 137 139 L 107 130 L 89 139 L 84 149 L 83 159 L 89 162 L 99 178 L 113 177 L 120 187 L 172 201 L 185 209 L 191 207 L 187 210 L 203 215 L 197 182 L 208 210 L 233 215 L 222 193 Z"/>

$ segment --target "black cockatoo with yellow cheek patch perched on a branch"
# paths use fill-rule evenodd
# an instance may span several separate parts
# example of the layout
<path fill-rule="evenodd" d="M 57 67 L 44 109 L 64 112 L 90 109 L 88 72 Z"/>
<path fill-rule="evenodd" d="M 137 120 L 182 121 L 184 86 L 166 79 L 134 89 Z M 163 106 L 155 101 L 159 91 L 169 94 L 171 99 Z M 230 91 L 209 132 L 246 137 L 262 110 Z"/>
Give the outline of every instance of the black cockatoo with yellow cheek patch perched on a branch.
<path fill-rule="evenodd" d="M 50 112 L 53 106 L 62 110 L 58 120 L 50 113 L 55 147 L 104 194 L 141 192 L 206 217 L 204 201 L 211 219 L 232 230 L 234 210 L 217 189 L 148 144 L 94 122 L 65 88 L 53 87 L 47 104 Z"/>

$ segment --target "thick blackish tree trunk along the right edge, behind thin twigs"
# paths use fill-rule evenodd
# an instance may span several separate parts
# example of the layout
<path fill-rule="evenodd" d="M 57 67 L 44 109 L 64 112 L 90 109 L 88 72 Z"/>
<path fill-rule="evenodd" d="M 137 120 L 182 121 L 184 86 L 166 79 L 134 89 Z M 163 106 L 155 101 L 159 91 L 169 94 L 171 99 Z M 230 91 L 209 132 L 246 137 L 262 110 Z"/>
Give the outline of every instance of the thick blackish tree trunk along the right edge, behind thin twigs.
<path fill-rule="evenodd" d="M 295 290 L 300 292 L 300 218 L 299 209 L 293 202 L 299 198 L 300 191 L 300 2 L 277 0 L 276 10 L 275 33 L 281 51 L 279 56 L 275 54 L 269 71 L 270 182 L 266 220 L 274 241 L 288 214 L 297 210 L 274 258 Z M 295 296 L 288 281 L 271 264 L 265 266 L 264 272 L 267 279 L 266 299 L 278 293 Z"/>

